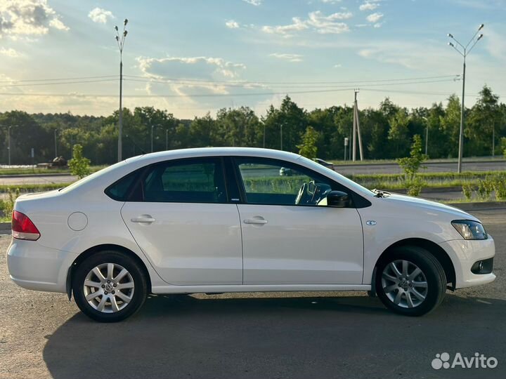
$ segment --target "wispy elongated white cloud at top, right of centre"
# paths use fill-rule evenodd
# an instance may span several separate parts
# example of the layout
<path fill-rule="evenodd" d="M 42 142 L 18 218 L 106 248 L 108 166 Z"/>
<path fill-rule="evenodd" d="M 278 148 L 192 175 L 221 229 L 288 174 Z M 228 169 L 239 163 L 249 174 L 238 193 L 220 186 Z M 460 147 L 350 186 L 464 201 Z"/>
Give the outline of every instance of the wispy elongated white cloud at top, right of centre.
<path fill-rule="evenodd" d="M 304 29 L 313 29 L 320 34 L 339 34 L 348 32 L 349 27 L 342 20 L 353 17 L 351 12 L 332 13 L 323 15 L 320 11 L 311 12 L 306 20 L 301 18 L 292 18 L 292 24 L 278 26 L 264 26 L 262 31 L 270 34 L 281 34 L 291 36 L 293 32 L 299 32 Z"/>

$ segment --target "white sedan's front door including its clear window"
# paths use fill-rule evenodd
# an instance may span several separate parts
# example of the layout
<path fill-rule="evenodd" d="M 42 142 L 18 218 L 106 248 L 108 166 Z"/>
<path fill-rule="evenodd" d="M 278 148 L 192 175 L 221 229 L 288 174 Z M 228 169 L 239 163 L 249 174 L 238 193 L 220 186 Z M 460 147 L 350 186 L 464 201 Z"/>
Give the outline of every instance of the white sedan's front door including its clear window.
<path fill-rule="evenodd" d="M 238 204 L 244 284 L 362 283 L 358 211 L 323 205 L 342 188 L 285 161 L 240 157 L 235 167 L 245 195 Z"/>

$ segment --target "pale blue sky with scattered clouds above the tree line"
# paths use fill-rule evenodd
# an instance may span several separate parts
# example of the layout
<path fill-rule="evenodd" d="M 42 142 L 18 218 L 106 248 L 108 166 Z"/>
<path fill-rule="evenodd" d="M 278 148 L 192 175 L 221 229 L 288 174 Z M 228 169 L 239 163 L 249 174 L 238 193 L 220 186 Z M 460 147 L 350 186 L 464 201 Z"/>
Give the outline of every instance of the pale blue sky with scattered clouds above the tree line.
<path fill-rule="evenodd" d="M 506 96 L 506 0 L 0 0 L 0 112 L 111 114 L 124 18 L 124 107 L 261 115 L 285 95 L 349 105 L 356 88 L 361 109 L 444 104 L 462 91 L 447 34 L 467 45 L 482 23 L 465 103 L 484 84 Z"/>

